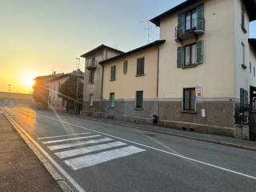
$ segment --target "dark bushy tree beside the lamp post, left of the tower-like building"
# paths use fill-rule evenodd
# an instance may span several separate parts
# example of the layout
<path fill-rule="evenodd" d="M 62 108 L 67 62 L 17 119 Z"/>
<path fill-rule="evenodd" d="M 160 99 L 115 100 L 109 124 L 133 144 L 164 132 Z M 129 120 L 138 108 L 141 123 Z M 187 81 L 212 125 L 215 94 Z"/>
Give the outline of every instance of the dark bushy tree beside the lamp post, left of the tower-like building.
<path fill-rule="evenodd" d="M 80 79 L 80 78 L 79 78 Z M 78 84 L 77 84 L 78 83 Z M 76 102 L 78 85 L 78 102 Z M 66 111 L 70 109 L 81 109 L 82 106 L 82 82 L 78 82 L 77 76 L 71 76 L 62 84 L 58 90 L 58 97 L 66 101 Z"/>

